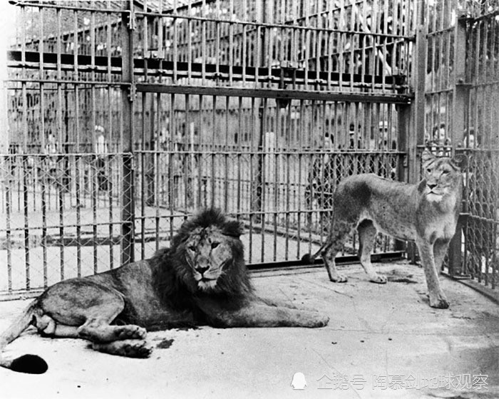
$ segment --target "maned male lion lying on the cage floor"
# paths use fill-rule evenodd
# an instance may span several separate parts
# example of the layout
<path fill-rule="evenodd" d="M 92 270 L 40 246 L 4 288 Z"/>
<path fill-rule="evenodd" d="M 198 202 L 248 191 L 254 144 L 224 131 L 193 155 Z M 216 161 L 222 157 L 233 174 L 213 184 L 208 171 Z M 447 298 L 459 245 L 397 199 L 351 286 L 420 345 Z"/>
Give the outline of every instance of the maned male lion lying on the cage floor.
<path fill-rule="evenodd" d="M 36 355 L 9 360 L 1 354 L 30 324 L 46 336 L 85 338 L 97 351 L 140 358 L 152 350 L 146 329 L 326 326 L 329 318 L 315 311 L 254 294 L 241 234 L 238 222 L 207 209 L 182 224 L 172 247 L 151 259 L 49 287 L 0 336 L 0 366 L 46 371 Z"/>

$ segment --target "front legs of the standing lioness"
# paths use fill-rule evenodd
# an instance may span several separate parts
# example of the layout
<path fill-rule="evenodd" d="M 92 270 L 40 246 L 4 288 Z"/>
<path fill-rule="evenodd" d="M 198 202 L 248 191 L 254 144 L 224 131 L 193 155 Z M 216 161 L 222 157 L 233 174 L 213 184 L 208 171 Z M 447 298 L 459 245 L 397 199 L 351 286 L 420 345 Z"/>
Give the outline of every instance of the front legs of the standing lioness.
<path fill-rule="evenodd" d="M 436 242 L 435 253 L 433 252 L 433 245 L 424 239 L 416 240 L 416 245 L 418 246 L 421 264 L 425 271 L 426 285 L 428 286 L 428 295 L 430 296 L 430 306 L 437 309 L 447 309 L 449 303 L 440 287 L 436 266 L 441 266 L 443 257 L 446 254 L 448 242 L 446 244 L 437 244 Z M 436 261 L 438 261 L 438 264 L 436 264 Z"/>

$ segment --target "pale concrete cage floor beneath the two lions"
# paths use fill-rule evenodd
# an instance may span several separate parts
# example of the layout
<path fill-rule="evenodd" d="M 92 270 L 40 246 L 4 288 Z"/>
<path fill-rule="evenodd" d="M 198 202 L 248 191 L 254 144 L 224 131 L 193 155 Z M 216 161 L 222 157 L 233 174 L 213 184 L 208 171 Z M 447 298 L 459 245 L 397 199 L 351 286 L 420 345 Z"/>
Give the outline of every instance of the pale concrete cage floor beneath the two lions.
<path fill-rule="evenodd" d="M 0 398 L 499 398 L 499 306 L 442 278 L 451 308 L 431 309 L 421 268 L 379 271 L 389 284 L 369 283 L 358 265 L 346 284 L 322 268 L 254 273 L 260 293 L 317 308 L 329 326 L 150 333 L 148 359 L 27 331 L 9 352 L 36 353 L 49 369 L 0 369 Z M 0 330 L 28 302 L 0 302 Z M 304 390 L 292 389 L 297 372 Z"/>

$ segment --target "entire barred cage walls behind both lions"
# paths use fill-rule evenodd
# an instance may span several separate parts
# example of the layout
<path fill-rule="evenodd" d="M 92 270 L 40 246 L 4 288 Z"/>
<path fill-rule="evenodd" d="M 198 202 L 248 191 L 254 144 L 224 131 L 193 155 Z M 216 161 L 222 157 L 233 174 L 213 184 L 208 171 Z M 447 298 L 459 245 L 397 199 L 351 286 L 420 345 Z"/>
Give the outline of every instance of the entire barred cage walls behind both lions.
<path fill-rule="evenodd" d="M 0 291 L 148 257 L 212 205 L 245 223 L 249 264 L 299 259 L 343 177 L 413 182 L 425 141 L 470 157 L 456 271 L 494 286 L 498 6 L 422 5 L 17 2 Z"/>

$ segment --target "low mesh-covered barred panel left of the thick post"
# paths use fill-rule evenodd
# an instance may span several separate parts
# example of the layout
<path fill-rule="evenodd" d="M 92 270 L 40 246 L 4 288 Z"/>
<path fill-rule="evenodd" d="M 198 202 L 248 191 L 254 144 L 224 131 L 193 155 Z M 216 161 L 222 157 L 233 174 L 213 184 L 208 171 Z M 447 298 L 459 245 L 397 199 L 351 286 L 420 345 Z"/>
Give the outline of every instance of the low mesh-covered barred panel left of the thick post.
<path fill-rule="evenodd" d="M 2 290 L 118 266 L 122 157 L 1 157 L 0 254 L 8 276 Z"/>

